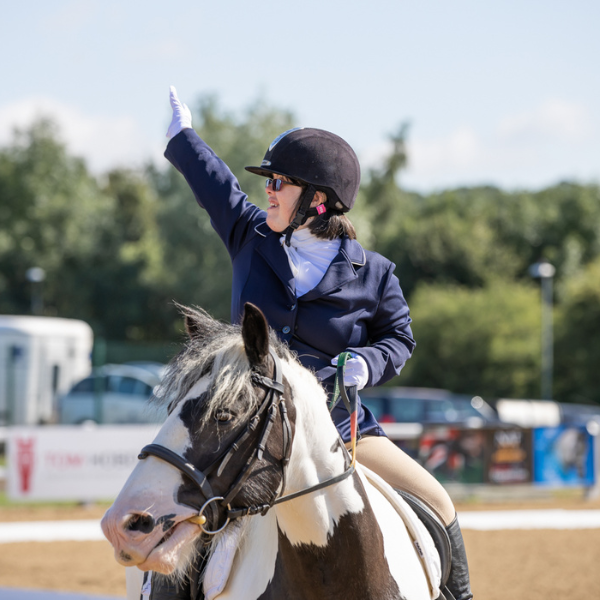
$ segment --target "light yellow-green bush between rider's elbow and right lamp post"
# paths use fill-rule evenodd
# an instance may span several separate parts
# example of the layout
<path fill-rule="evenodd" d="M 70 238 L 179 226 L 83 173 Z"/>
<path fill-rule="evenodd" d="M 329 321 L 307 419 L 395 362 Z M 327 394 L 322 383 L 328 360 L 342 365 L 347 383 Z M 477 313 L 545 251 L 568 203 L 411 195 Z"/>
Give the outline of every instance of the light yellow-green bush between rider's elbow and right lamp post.
<path fill-rule="evenodd" d="M 535 285 L 496 280 L 468 289 L 422 283 L 411 316 L 417 347 L 395 383 L 537 397 L 541 332 Z"/>

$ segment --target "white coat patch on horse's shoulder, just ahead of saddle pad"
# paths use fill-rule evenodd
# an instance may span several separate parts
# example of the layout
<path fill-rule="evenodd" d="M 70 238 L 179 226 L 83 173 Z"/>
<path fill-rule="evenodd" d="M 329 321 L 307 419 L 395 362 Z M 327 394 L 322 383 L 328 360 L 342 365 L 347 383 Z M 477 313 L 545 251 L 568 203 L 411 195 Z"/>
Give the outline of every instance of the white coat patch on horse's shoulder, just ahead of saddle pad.
<path fill-rule="evenodd" d="M 392 505 L 358 471 L 369 503 L 381 527 L 385 557 L 392 577 L 398 582 L 406 600 L 431 600 L 429 583 L 410 535 Z"/>

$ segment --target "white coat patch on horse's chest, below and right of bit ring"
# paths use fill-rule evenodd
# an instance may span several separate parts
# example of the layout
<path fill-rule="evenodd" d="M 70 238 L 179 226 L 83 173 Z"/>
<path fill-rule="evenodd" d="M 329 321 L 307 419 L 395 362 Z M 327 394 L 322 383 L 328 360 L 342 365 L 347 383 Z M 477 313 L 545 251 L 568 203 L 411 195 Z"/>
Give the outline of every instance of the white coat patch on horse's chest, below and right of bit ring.
<path fill-rule="evenodd" d="M 231 575 L 219 600 L 256 600 L 275 574 L 278 552 L 277 517 L 250 517 L 235 554 Z"/>

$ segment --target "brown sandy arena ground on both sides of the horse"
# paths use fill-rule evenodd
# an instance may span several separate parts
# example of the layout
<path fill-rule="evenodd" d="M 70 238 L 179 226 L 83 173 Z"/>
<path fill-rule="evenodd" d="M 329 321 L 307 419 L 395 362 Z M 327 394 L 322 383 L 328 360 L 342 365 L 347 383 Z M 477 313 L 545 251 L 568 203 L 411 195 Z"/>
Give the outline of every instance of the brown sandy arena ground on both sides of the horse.
<path fill-rule="evenodd" d="M 0 507 L 0 521 L 100 518 L 106 506 Z M 458 505 L 460 510 L 600 509 L 577 498 Z M 475 600 L 584 598 L 596 589 L 600 529 L 465 531 Z M 125 574 L 108 542 L 0 545 L 0 587 L 124 596 Z M 592 592 L 593 595 L 593 592 Z"/>

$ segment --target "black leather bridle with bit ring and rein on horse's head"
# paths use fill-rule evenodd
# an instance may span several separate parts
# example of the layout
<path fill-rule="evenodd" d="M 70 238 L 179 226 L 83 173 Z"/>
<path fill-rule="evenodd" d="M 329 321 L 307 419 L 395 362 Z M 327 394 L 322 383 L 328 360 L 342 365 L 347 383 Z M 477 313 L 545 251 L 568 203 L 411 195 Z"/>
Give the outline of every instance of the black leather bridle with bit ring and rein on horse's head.
<path fill-rule="evenodd" d="M 189 479 L 191 479 L 202 492 L 202 495 L 206 498 L 206 502 L 200 508 L 198 515 L 195 515 L 188 519 L 193 523 L 196 523 L 200 526 L 202 531 L 207 535 L 214 535 L 219 533 L 227 527 L 229 522 L 232 519 L 238 519 L 240 517 L 245 517 L 247 515 L 256 515 L 261 514 L 265 515 L 267 511 L 275 506 L 276 504 L 280 504 L 282 502 L 287 502 L 289 500 L 294 500 L 300 496 L 304 496 L 305 494 L 310 494 L 312 492 L 316 492 L 317 490 L 323 489 L 335 483 L 339 483 L 343 481 L 350 475 L 354 473 L 354 464 L 351 464 L 341 475 L 337 475 L 335 477 L 331 477 L 322 481 L 316 485 L 313 485 L 309 488 L 305 488 L 300 490 L 299 492 L 295 492 L 293 494 L 288 494 L 287 496 L 278 496 L 278 493 L 275 492 L 273 495 L 273 499 L 271 502 L 261 505 L 252 505 L 252 506 L 244 506 L 244 507 L 231 507 L 231 502 L 235 499 L 235 497 L 241 491 L 244 483 L 247 481 L 248 477 L 252 472 L 252 467 L 256 462 L 262 460 L 263 453 L 267 446 L 267 442 L 271 431 L 273 429 L 273 425 L 275 420 L 277 419 L 277 414 L 281 418 L 282 430 L 283 430 L 283 457 L 281 459 L 281 467 L 282 467 L 282 485 L 280 487 L 280 493 L 285 489 L 286 483 L 286 473 L 287 466 L 290 462 L 290 455 L 292 452 L 292 427 L 290 425 L 290 420 L 287 414 L 287 408 L 285 406 L 285 401 L 283 395 L 285 393 L 285 388 L 283 385 L 283 376 L 281 369 L 281 361 L 277 354 L 272 349 L 269 349 L 269 353 L 271 358 L 273 359 L 274 364 L 274 372 L 273 378 L 264 377 L 260 375 L 256 371 L 254 371 L 251 375 L 252 383 L 258 386 L 261 386 L 267 390 L 267 394 L 262 404 L 258 407 L 257 411 L 254 415 L 249 419 L 245 429 L 240 433 L 240 435 L 227 447 L 224 451 L 208 466 L 201 471 L 196 468 L 193 464 L 188 462 L 181 455 L 169 450 L 165 446 L 161 446 L 160 444 L 149 444 L 142 448 L 138 458 L 143 460 L 148 456 L 155 456 L 167 463 L 171 466 L 179 469 L 184 475 L 186 475 Z M 213 492 L 212 486 L 208 480 L 209 475 L 211 475 L 216 470 L 215 477 L 220 477 L 225 469 L 225 466 L 234 455 L 234 453 L 240 448 L 243 442 L 254 432 L 260 424 L 262 415 L 267 412 L 267 418 L 262 428 L 262 432 L 256 447 L 253 449 L 251 455 L 248 457 L 246 464 L 242 467 L 240 473 L 236 477 L 235 481 L 232 483 L 229 490 L 225 493 L 224 496 L 217 496 Z M 340 441 L 340 446 L 343 448 L 343 444 Z M 207 529 L 204 527 L 207 522 L 207 517 L 204 514 L 205 511 L 210 511 L 210 522 L 214 523 L 218 526 L 219 520 L 219 511 L 218 506 L 215 503 L 219 503 L 222 509 L 225 509 L 226 520 L 221 527 L 217 527 L 216 529 Z"/>

